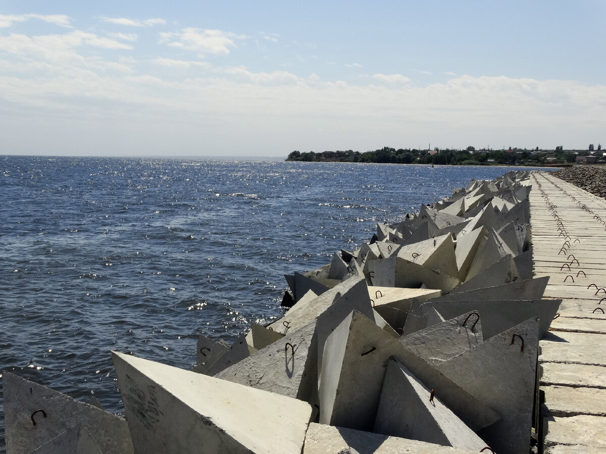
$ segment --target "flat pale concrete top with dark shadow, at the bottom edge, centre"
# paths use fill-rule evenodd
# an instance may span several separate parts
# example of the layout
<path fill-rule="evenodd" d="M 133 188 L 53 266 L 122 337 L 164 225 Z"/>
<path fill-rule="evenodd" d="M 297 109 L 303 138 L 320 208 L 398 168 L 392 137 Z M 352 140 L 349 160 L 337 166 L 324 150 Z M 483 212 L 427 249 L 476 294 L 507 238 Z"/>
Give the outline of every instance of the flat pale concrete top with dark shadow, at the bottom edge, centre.
<path fill-rule="evenodd" d="M 345 429 L 344 427 L 316 423 L 309 425 L 307 435 L 305 435 L 303 454 L 345 454 L 348 449 L 353 449 L 359 454 L 401 454 L 405 452 L 464 454 L 476 452 L 362 430 Z"/>

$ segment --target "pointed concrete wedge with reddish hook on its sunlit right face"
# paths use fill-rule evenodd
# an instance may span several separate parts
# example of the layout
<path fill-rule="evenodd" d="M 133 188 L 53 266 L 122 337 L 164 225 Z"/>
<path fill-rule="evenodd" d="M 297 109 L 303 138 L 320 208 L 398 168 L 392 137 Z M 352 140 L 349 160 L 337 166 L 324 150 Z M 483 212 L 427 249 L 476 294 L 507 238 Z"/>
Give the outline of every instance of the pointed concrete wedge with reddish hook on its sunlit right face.
<path fill-rule="evenodd" d="M 479 452 L 486 443 L 404 364 L 390 358 L 373 432 Z"/>

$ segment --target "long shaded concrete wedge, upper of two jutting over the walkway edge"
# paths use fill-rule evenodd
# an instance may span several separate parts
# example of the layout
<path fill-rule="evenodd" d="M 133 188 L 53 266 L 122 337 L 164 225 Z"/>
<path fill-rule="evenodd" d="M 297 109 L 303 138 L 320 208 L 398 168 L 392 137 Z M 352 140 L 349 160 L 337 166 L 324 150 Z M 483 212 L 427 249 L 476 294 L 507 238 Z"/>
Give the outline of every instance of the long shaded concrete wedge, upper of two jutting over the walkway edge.
<path fill-rule="evenodd" d="M 430 298 L 430 300 L 439 301 L 440 298 L 448 301 L 540 300 L 548 281 L 549 277 L 545 276 L 527 280 L 518 279 L 508 284 L 468 291 L 459 291 L 459 287 L 444 297 Z"/>

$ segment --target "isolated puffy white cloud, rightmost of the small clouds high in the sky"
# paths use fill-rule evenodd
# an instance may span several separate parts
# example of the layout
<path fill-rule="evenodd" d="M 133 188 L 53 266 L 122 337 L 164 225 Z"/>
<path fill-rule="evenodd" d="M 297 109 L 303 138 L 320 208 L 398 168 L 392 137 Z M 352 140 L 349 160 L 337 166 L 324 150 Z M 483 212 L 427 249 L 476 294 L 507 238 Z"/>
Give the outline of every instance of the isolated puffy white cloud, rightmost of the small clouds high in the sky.
<path fill-rule="evenodd" d="M 178 32 L 160 33 L 160 42 L 171 47 L 192 50 L 199 54 L 227 55 L 230 47 L 237 47 L 234 39 L 246 36 L 221 30 L 184 28 Z"/>

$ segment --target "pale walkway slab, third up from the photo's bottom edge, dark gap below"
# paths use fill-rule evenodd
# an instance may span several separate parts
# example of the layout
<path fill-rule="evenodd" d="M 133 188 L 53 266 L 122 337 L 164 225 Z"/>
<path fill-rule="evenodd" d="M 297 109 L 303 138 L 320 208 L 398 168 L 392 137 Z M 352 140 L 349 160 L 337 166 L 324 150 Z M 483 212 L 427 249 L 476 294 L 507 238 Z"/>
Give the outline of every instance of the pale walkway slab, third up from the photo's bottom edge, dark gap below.
<path fill-rule="evenodd" d="M 606 416 L 606 390 L 591 387 L 545 386 L 547 415 Z"/>

